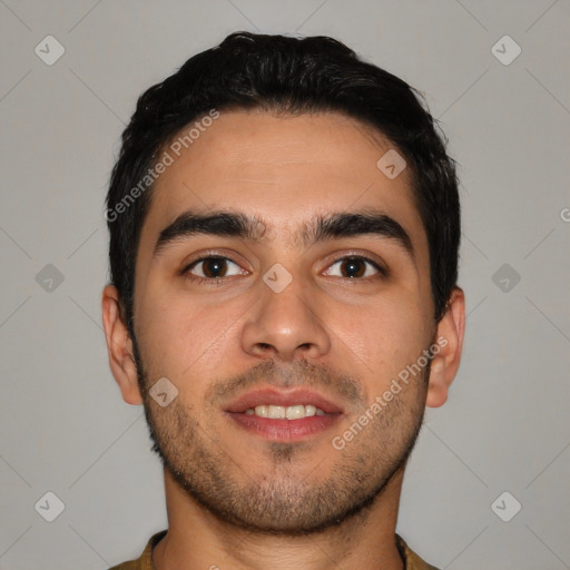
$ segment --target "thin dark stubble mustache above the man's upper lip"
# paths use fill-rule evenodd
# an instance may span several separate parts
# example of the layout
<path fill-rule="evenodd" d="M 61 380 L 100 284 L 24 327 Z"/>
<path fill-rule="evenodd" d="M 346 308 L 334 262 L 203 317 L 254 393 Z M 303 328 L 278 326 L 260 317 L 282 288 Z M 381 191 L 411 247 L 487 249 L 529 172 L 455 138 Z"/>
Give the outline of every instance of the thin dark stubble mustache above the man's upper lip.
<path fill-rule="evenodd" d="M 264 361 L 257 366 L 227 380 L 215 382 L 206 400 L 212 403 L 225 402 L 249 389 L 265 385 L 277 389 L 314 387 L 326 393 L 333 392 L 353 405 L 366 402 L 362 385 L 351 375 L 337 372 L 330 365 L 317 365 L 299 360 L 291 364 Z"/>

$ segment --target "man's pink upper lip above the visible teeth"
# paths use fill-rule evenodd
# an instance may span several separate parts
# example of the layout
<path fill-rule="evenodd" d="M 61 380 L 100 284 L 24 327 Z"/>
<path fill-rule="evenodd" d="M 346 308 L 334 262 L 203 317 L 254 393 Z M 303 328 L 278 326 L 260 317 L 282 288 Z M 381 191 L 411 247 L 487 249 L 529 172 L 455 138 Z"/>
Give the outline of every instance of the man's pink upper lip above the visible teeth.
<path fill-rule="evenodd" d="M 298 404 L 314 405 L 315 407 L 318 407 L 328 414 L 343 413 L 343 410 L 338 405 L 334 404 L 317 392 L 303 387 L 287 392 L 279 391 L 274 387 L 253 390 L 252 392 L 247 392 L 246 394 L 239 396 L 237 400 L 234 400 L 226 407 L 226 412 L 243 413 L 250 407 L 256 407 L 264 404 L 281 405 L 284 407 Z"/>

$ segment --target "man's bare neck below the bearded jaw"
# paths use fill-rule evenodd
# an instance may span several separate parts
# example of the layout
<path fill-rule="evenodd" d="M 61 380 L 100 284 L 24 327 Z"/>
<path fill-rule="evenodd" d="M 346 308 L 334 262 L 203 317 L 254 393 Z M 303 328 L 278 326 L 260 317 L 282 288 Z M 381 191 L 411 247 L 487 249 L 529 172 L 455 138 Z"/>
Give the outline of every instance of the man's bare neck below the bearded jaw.
<path fill-rule="evenodd" d="M 395 543 L 403 468 L 373 504 L 318 533 L 271 535 L 240 529 L 199 505 L 165 469 L 168 532 L 153 553 L 156 570 L 402 570 Z"/>

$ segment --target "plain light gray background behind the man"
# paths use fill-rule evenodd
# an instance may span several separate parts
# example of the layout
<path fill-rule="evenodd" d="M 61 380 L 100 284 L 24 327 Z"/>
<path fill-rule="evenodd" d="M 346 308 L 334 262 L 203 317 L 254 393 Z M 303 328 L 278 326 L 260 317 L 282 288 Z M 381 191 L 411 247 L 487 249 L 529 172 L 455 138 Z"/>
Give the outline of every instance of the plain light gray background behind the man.
<path fill-rule="evenodd" d="M 105 569 L 166 528 L 142 409 L 107 364 L 104 196 L 138 95 L 242 29 L 330 35 L 400 75 L 461 165 L 464 356 L 399 531 L 445 569 L 570 568 L 569 24 L 568 0 L 0 0 L 0 568 Z"/>

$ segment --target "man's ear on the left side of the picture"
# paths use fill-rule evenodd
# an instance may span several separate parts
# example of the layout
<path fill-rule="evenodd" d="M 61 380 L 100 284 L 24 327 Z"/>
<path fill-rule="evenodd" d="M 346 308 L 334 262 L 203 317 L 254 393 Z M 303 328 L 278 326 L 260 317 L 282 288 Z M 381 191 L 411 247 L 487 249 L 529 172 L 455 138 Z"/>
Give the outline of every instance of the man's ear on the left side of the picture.
<path fill-rule="evenodd" d="M 141 404 L 138 386 L 137 365 L 132 356 L 132 341 L 120 317 L 119 293 L 114 285 L 102 291 L 102 325 L 109 353 L 109 366 L 127 404 Z"/>

